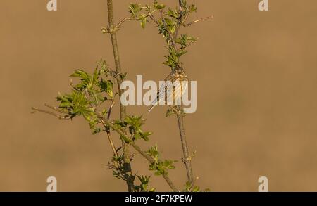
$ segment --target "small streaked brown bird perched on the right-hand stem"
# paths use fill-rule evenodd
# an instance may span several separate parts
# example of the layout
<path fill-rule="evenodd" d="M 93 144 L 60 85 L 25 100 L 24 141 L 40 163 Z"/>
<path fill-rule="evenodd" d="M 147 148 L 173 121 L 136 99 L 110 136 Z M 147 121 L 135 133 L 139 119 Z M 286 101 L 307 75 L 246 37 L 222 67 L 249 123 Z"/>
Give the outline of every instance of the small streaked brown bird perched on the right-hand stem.
<path fill-rule="evenodd" d="M 185 93 L 188 85 L 188 77 L 184 72 L 184 69 L 180 66 L 176 66 L 172 69 L 172 72 L 164 79 L 164 84 L 159 89 L 156 99 L 151 103 L 149 112 L 153 110 L 156 105 L 160 105 L 163 101 L 165 104 L 168 102 L 168 94 L 173 94 L 173 103 L 180 101 L 182 95 Z M 171 89 L 173 89 L 171 91 Z"/>

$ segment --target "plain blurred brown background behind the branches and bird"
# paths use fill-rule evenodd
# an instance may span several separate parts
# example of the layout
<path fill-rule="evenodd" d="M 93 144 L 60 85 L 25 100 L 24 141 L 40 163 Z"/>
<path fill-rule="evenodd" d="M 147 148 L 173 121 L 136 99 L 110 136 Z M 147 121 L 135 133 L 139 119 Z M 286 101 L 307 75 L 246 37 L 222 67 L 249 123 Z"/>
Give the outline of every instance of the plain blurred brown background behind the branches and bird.
<path fill-rule="evenodd" d="M 48 1 L 0 2 L 0 191 L 46 191 L 48 176 L 57 177 L 58 191 L 125 191 L 106 169 L 104 134 L 92 136 L 81 119 L 30 114 L 69 91 L 73 70 L 92 71 L 100 58 L 113 67 L 111 41 L 100 31 L 106 0 L 58 0 L 56 12 L 46 11 Z M 197 184 L 257 191 L 259 176 L 267 176 L 270 191 L 317 191 L 317 2 L 270 1 L 270 11 L 260 12 L 259 1 L 194 1 L 199 10 L 191 20 L 215 19 L 182 30 L 200 37 L 183 58 L 198 84 L 197 112 L 185 118 Z M 115 1 L 116 22 L 129 3 Z M 153 25 L 127 22 L 118 42 L 129 79 L 166 77 L 164 40 Z M 158 143 L 163 157 L 180 160 L 175 117 L 165 118 L 164 107 L 148 109 L 128 108 L 154 131 L 142 147 Z M 176 166 L 170 177 L 181 187 L 185 169 L 181 161 Z M 139 155 L 133 169 L 151 174 Z M 157 176 L 151 186 L 169 189 Z"/>

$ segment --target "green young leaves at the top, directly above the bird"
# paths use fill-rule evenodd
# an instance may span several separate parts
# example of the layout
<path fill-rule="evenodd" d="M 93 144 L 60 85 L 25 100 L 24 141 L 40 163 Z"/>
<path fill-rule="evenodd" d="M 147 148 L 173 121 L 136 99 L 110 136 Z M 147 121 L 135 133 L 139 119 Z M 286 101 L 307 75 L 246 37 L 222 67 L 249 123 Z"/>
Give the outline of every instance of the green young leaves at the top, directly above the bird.
<path fill-rule="evenodd" d="M 156 20 L 155 13 L 159 11 L 161 17 Z M 142 28 L 145 27 L 149 20 L 152 20 L 162 34 L 166 38 L 168 55 L 165 56 L 166 61 L 163 63 L 168 67 L 180 65 L 180 57 L 187 53 L 187 46 L 197 41 L 197 38 L 188 34 L 182 34 L 178 37 L 178 30 L 185 23 L 190 13 L 196 12 L 197 7 L 192 4 L 188 5 L 187 1 L 181 1 L 181 8 L 166 8 L 165 4 L 159 4 L 154 0 L 152 5 L 142 6 L 141 4 L 130 4 L 129 12 L 132 19 L 140 22 Z"/>

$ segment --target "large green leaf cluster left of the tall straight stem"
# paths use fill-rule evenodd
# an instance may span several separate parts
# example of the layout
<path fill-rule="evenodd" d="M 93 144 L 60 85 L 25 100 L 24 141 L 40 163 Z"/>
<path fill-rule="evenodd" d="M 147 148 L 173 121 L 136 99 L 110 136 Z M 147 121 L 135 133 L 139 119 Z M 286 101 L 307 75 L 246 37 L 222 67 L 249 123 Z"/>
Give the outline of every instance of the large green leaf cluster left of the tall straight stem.
<path fill-rule="evenodd" d="M 72 91 L 69 94 L 58 94 L 58 111 L 66 114 L 69 119 L 84 117 L 93 134 L 99 133 L 101 128 L 97 126 L 100 122 L 96 110 L 105 101 L 113 101 L 114 97 L 113 82 L 111 79 L 104 79 L 109 77 L 109 72 L 105 64 L 102 64 L 101 69 L 96 67 L 92 74 L 76 70 L 70 77 L 76 77 L 79 83 L 71 83 Z M 106 112 L 104 108 L 102 113 L 106 115 Z"/>

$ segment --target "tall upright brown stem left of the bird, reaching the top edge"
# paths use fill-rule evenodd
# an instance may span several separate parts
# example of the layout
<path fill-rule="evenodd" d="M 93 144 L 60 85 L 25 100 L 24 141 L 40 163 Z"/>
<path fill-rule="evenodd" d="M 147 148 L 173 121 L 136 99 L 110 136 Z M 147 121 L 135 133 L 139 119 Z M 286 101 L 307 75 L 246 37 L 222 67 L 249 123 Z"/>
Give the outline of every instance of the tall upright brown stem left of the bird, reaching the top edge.
<path fill-rule="evenodd" d="M 116 64 L 116 72 L 118 74 L 121 73 L 121 64 L 120 64 L 120 56 L 119 56 L 119 49 L 118 49 L 118 41 L 117 41 L 117 35 L 116 35 L 116 29 L 113 22 L 113 1 L 107 0 L 107 7 L 108 7 L 108 23 L 109 23 L 109 31 L 111 36 L 111 43 L 112 43 L 112 49 L 113 49 L 113 57 Z M 120 89 L 120 84 L 122 82 L 121 78 L 118 78 L 117 84 L 118 84 L 118 93 L 119 97 L 122 94 L 122 90 Z M 126 109 L 125 106 L 120 103 L 120 119 L 123 121 L 125 119 L 126 115 Z M 123 149 L 123 157 L 124 157 L 124 169 L 125 169 L 125 176 L 128 186 L 128 191 L 132 191 L 133 188 L 133 181 L 134 177 L 132 176 L 132 169 L 131 169 L 131 163 L 130 163 L 130 155 L 129 155 L 129 147 L 128 145 L 122 141 L 122 149 Z"/>

